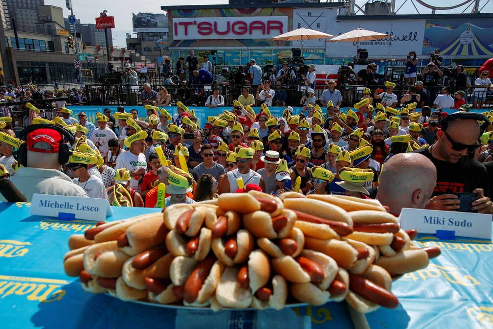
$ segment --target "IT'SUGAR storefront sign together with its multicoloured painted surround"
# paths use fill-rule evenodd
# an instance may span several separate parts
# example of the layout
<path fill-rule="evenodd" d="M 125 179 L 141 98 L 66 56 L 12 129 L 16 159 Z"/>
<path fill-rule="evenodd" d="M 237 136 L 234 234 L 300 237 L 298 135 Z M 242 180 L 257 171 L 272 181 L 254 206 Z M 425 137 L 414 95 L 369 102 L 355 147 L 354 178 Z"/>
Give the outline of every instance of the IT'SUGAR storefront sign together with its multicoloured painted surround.
<path fill-rule="evenodd" d="M 293 8 L 168 10 L 170 47 L 269 47 L 290 31 Z"/>

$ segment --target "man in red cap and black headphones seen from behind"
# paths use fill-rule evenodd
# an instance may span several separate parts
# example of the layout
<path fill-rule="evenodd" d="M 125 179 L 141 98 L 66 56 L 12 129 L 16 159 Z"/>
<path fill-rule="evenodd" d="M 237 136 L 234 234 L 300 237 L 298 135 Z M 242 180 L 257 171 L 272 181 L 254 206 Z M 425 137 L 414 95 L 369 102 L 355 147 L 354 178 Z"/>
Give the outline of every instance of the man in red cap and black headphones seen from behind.
<path fill-rule="evenodd" d="M 61 133 L 64 129 L 58 128 L 59 131 L 49 125 L 37 126 L 40 127 L 35 130 L 28 128 L 27 141 L 19 147 L 16 154 L 19 163 L 26 168 L 20 167 L 10 181 L 24 194 L 28 202 L 33 200 L 35 193 L 87 197 L 84 189 L 72 183 L 69 176 L 61 171 L 62 165 L 69 161 L 70 156 Z M 67 132 L 67 136 L 69 135 Z M 5 201 L 1 195 L 0 201 Z"/>

